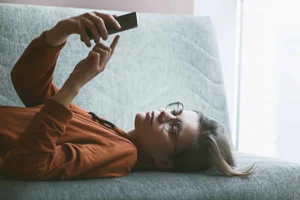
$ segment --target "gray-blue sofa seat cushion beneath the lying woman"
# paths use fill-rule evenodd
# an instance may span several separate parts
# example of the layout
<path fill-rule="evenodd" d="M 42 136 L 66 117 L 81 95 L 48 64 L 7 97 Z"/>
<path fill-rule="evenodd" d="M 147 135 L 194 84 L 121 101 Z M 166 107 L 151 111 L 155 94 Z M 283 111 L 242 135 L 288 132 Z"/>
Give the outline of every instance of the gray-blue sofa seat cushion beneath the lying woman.
<path fill-rule="evenodd" d="M 195 173 L 132 172 L 107 179 L 18 181 L 0 178 L 1 199 L 299 199 L 300 164 L 234 152 L 238 167 L 259 163 L 247 177 L 215 168 Z"/>

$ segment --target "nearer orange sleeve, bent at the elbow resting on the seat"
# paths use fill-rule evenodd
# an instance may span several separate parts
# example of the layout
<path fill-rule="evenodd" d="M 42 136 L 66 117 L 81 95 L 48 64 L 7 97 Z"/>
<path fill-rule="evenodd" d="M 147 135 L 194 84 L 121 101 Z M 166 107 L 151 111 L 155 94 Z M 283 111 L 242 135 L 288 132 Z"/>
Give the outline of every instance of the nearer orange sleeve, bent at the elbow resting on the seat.
<path fill-rule="evenodd" d="M 2 175 L 22 180 L 66 180 L 118 177 L 132 169 L 136 152 L 129 143 L 120 148 L 119 142 L 90 139 L 56 145 L 72 117 L 68 108 L 49 98 L 5 156 L 0 166 Z"/>

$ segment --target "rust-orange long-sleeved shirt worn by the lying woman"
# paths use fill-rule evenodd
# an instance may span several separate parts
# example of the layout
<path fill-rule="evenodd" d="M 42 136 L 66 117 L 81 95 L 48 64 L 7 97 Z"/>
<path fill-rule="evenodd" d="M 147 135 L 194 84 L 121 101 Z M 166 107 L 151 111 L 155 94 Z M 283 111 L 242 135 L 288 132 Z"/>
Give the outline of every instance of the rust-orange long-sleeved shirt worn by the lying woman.
<path fill-rule="evenodd" d="M 46 31 L 31 41 L 10 73 L 26 107 L 0 105 L 0 173 L 16 179 L 57 180 L 157 170 L 126 132 L 97 121 L 74 102 L 66 108 L 51 98 L 59 90 L 52 82 L 53 71 L 66 42 L 46 46 L 42 42 Z"/>

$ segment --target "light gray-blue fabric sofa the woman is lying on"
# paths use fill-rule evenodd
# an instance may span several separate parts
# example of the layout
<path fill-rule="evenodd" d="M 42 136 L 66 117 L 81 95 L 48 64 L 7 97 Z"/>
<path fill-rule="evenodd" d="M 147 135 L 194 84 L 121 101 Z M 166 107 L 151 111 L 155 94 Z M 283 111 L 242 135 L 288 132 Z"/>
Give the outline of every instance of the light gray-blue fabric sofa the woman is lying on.
<path fill-rule="evenodd" d="M 92 10 L 0 3 L 0 104 L 24 107 L 9 73 L 29 42 L 59 20 L 86 11 Z M 139 13 L 139 27 L 120 36 L 106 70 L 82 88 L 74 99 L 77 105 L 129 130 L 135 113 L 179 100 L 186 109 L 201 110 L 223 123 L 231 141 L 209 17 Z M 58 87 L 88 51 L 79 35 L 70 36 L 54 72 Z M 259 169 L 244 178 L 223 176 L 214 168 L 71 181 L 17 181 L 0 176 L 0 199 L 300 199 L 300 164 L 237 151 L 234 156 L 238 167 L 256 162 Z"/>

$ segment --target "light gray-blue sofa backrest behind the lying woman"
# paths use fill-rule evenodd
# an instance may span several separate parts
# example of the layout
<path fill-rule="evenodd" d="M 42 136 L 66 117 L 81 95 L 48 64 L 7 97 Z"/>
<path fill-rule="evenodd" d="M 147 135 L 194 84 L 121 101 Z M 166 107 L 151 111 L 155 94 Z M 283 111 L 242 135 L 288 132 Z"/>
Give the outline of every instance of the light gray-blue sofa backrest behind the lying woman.
<path fill-rule="evenodd" d="M 30 41 L 59 20 L 88 11 L 93 10 L 0 3 L 0 104 L 24 106 L 9 73 Z M 216 35 L 210 18 L 138 13 L 138 19 L 137 28 L 119 33 L 119 44 L 107 68 L 81 89 L 74 102 L 129 130 L 134 128 L 137 112 L 180 101 L 185 109 L 200 110 L 220 121 L 231 142 Z M 104 43 L 108 45 L 112 39 L 110 35 Z M 79 35 L 69 37 L 54 71 L 53 82 L 59 88 L 91 48 L 80 41 Z"/>

